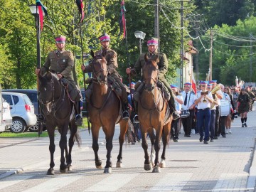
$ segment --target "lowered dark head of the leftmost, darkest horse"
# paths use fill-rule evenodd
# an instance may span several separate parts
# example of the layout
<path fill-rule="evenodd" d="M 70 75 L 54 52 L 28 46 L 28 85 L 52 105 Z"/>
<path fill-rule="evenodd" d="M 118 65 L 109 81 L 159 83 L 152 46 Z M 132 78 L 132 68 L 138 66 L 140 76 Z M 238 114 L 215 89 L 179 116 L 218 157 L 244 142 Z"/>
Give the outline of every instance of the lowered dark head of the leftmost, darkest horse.
<path fill-rule="evenodd" d="M 38 101 L 42 105 L 45 105 L 48 112 L 51 112 L 55 96 L 60 94 L 59 78 L 55 73 L 46 72 L 43 75 L 38 75 L 39 87 L 38 87 Z M 58 92 L 58 95 L 55 94 Z"/>

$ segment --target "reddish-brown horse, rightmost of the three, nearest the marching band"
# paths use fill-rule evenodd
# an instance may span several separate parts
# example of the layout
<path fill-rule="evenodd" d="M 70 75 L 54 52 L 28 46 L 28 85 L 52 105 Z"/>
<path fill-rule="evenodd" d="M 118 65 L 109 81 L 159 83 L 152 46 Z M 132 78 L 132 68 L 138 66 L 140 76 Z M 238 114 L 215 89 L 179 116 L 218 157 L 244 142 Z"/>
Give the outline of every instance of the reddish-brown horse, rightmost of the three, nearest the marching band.
<path fill-rule="evenodd" d="M 144 149 L 145 161 L 144 169 L 149 171 L 154 166 L 153 173 L 159 173 L 165 164 L 165 151 L 168 143 L 168 135 L 171 130 L 172 116 L 169 110 L 168 102 L 164 99 L 164 94 L 157 87 L 158 80 L 158 58 L 150 60 L 145 54 L 145 65 L 142 68 L 144 78 L 144 89 L 139 95 L 138 115 L 139 126 L 142 132 L 142 148 Z M 154 129 L 156 135 L 154 135 Z M 149 132 L 151 140 L 151 162 L 149 161 L 148 144 L 146 142 L 146 133 Z M 163 135 L 164 149 L 159 164 L 160 139 Z M 154 150 L 156 154 L 154 155 Z"/>

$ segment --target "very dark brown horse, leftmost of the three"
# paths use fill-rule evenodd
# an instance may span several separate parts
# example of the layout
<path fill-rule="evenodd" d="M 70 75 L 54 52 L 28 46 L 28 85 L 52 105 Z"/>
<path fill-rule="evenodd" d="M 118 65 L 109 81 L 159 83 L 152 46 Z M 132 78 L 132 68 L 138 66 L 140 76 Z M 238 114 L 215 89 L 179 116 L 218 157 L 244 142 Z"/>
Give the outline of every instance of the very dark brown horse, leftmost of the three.
<path fill-rule="evenodd" d="M 56 74 L 49 71 L 43 75 L 38 74 L 38 80 L 38 101 L 41 105 L 43 117 L 46 120 L 46 129 L 50 139 L 50 168 L 47 171 L 47 175 L 55 174 L 53 160 L 55 127 L 58 127 L 58 132 L 60 133 L 60 173 L 65 173 L 72 170 L 71 152 L 74 142 L 76 141 L 78 146 L 81 144 L 78 126 L 75 124 L 74 104 L 68 97 L 68 90 L 65 90 Z M 68 129 L 70 129 L 69 149 L 67 146 Z"/>

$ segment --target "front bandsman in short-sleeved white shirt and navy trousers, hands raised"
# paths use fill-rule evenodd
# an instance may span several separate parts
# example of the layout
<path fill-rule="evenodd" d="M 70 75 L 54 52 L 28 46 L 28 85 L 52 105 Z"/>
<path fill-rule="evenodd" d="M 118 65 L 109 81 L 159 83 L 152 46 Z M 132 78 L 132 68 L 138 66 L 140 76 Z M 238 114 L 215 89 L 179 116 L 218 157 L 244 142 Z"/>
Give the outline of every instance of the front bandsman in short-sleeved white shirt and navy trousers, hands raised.
<path fill-rule="evenodd" d="M 196 93 L 194 106 L 197 105 L 197 121 L 198 129 L 200 134 L 200 142 L 208 144 L 209 132 L 210 132 L 210 105 L 213 103 L 213 96 L 211 92 L 206 91 L 206 86 L 208 82 L 201 82 L 201 92 Z M 194 107 L 193 106 L 193 107 Z M 204 125 L 204 126 L 203 126 Z M 204 127 L 204 135 L 203 135 Z M 203 138 L 204 136 L 204 138 Z"/>

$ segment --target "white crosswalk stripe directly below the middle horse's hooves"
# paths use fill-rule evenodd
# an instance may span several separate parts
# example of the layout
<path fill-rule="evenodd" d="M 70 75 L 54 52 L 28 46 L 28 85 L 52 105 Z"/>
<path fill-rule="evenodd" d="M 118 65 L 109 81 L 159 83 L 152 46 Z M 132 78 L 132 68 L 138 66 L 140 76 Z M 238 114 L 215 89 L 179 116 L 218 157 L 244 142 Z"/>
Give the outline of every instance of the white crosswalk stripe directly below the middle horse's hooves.
<path fill-rule="evenodd" d="M 85 191 L 117 191 L 139 174 L 113 174 Z"/>

